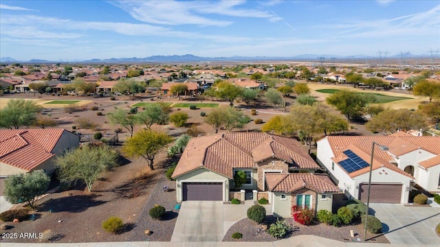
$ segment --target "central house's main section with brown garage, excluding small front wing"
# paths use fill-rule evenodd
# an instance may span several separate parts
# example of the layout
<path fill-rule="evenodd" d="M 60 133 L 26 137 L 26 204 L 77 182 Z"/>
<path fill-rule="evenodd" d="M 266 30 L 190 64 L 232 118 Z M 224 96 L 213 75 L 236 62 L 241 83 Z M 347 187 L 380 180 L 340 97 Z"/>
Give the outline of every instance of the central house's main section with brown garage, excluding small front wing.
<path fill-rule="evenodd" d="M 230 132 L 190 139 L 173 173 L 177 201 L 230 199 L 234 175 L 245 183 L 236 190 L 267 191 L 269 173 L 310 173 L 320 167 L 298 141 L 261 132 Z"/>

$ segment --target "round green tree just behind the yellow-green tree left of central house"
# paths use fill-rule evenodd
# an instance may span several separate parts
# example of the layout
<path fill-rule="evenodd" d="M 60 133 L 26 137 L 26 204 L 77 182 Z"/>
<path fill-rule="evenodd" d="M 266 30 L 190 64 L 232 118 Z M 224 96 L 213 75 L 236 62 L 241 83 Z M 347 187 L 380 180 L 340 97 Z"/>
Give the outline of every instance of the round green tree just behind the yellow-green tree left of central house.
<path fill-rule="evenodd" d="M 146 128 L 151 129 L 153 124 L 166 124 L 168 122 L 168 110 L 162 104 L 146 104 L 144 110 L 135 115 L 138 123 L 145 124 Z"/>

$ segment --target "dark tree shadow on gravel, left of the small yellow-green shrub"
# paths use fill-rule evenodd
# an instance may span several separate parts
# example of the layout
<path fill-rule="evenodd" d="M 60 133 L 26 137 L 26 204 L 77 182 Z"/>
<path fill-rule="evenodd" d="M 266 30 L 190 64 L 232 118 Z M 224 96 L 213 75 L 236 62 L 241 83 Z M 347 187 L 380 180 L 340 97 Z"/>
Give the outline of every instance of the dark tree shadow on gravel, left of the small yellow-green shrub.
<path fill-rule="evenodd" d="M 95 200 L 97 197 L 97 195 L 79 195 L 56 199 L 52 198 L 40 204 L 38 211 L 80 213 L 86 211 L 90 207 L 96 207 L 106 202 Z"/>

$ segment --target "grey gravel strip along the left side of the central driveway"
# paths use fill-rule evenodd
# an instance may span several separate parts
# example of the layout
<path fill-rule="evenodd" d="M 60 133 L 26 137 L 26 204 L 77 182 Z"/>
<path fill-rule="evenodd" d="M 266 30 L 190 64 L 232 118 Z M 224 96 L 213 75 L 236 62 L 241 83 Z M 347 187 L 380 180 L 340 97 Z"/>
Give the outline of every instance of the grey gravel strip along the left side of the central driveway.
<path fill-rule="evenodd" d="M 162 187 L 168 185 L 172 191 L 164 192 Z M 159 204 L 166 209 L 166 213 L 162 220 L 153 220 L 148 212 L 151 208 Z M 157 180 L 157 183 L 151 191 L 150 198 L 146 201 L 144 209 L 137 218 L 135 228 L 131 231 L 126 241 L 155 241 L 155 242 L 169 242 L 173 235 L 174 226 L 176 224 L 179 210 L 175 209 L 176 193 L 175 181 L 168 180 L 164 175 Z M 153 233 L 146 235 L 144 231 L 150 230 Z"/>

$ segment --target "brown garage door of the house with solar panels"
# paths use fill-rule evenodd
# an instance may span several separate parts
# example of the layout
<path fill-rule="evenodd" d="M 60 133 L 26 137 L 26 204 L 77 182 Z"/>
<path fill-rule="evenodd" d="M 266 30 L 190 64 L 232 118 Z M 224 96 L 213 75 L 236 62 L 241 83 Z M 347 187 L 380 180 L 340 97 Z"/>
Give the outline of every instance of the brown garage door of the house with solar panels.
<path fill-rule="evenodd" d="M 402 185 L 371 184 L 370 202 L 400 203 Z M 359 185 L 359 199 L 366 202 L 369 184 Z"/>

